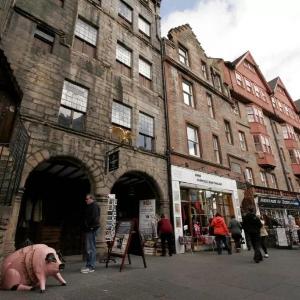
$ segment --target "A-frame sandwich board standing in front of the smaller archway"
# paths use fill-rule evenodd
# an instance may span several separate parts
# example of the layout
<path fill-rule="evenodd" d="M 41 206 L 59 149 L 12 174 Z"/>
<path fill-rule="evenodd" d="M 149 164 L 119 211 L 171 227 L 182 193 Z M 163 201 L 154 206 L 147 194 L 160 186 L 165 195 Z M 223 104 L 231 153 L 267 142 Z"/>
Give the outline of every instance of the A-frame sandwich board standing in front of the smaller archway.
<path fill-rule="evenodd" d="M 118 223 L 113 242 L 108 249 L 106 268 L 112 257 L 120 257 L 122 258 L 120 266 L 121 272 L 126 256 L 128 257 L 129 264 L 131 264 L 129 254 L 142 256 L 144 267 L 147 268 L 142 238 L 133 220 L 120 221 Z"/>

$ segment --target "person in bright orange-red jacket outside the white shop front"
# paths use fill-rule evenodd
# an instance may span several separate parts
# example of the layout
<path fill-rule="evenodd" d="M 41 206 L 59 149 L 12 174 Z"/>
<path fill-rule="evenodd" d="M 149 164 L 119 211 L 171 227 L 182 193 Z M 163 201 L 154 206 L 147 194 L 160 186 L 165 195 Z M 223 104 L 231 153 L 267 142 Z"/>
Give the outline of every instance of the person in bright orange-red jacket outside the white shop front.
<path fill-rule="evenodd" d="M 231 254 L 231 246 L 228 238 L 230 233 L 223 217 L 219 213 L 216 213 L 215 217 L 212 219 L 211 226 L 214 228 L 218 254 L 222 254 L 222 243 L 224 244 L 225 249 L 228 251 L 228 254 Z"/>

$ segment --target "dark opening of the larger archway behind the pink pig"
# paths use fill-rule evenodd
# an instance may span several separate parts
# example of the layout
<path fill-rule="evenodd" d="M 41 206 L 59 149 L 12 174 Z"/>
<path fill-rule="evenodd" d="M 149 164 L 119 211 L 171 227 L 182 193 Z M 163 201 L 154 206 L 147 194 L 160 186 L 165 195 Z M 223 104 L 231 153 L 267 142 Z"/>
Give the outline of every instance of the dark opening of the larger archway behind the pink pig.
<path fill-rule="evenodd" d="M 16 248 L 30 240 L 60 249 L 63 255 L 82 253 L 85 195 L 91 186 L 78 162 L 53 158 L 28 176 L 16 233 Z"/>

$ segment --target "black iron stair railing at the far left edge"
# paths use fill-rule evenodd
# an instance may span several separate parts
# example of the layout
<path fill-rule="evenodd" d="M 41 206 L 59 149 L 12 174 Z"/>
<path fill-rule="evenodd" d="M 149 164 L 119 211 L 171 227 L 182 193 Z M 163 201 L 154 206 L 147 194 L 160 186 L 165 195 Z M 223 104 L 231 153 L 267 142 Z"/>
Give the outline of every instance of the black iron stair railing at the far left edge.
<path fill-rule="evenodd" d="M 29 135 L 19 117 L 9 143 L 0 143 L 0 205 L 10 206 L 23 171 Z"/>

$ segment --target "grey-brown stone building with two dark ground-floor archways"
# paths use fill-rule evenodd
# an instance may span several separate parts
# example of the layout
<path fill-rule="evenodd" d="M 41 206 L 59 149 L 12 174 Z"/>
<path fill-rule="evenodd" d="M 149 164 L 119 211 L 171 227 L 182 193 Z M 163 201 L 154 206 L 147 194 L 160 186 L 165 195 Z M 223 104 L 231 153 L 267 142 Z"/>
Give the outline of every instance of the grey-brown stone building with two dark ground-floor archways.
<path fill-rule="evenodd" d="M 30 136 L 17 192 L 0 201 L 3 251 L 28 238 L 81 253 L 86 193 L 101 207 L 99 253 L 109 194 L 117 218 L 138 218 L 146 199 L 169 215 L 160 1 L 2 3 L 0 46 Z"/>

